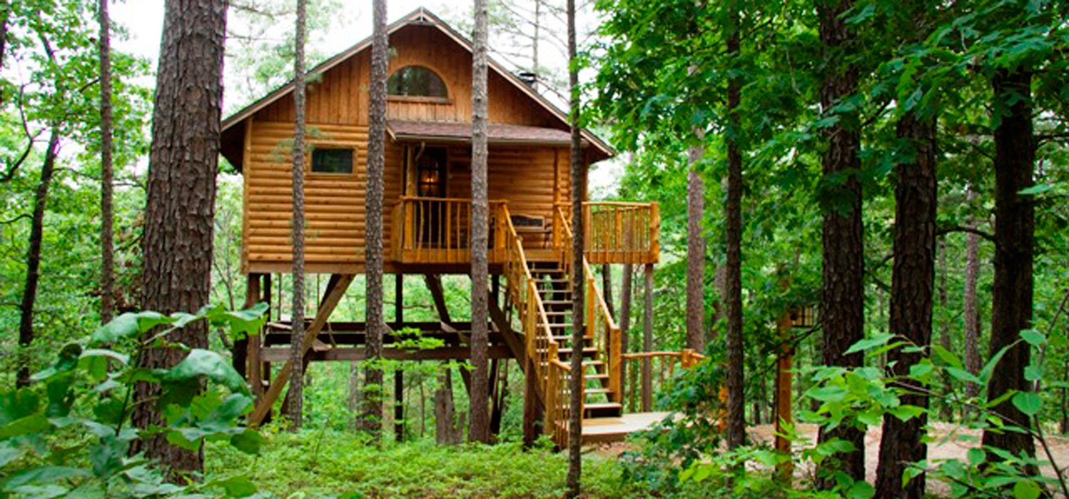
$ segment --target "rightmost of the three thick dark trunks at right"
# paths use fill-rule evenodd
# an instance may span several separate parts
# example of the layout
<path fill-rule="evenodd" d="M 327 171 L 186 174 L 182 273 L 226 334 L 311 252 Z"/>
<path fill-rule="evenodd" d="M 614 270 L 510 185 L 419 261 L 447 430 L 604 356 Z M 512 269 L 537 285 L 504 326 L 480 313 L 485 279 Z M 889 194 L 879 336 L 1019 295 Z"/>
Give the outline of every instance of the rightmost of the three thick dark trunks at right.
<path fill-rule="evenodd" d="M 1034 184 L 1036 147 L 1032 125 L 1032 74 L 998 69 L 992 79 L 994 90 L 995 142 L 995 279 L 992 287 L 991 355 L 1013 344 L 1024 329 L 1032 327 L 1033 275 L 1035 249 L 1035 206 L 1022 189 Z M 988 400 L 1007 391 L 1029 391 L 1024 368 L 1031 359 L 1031 346 L 1018 343 L 995 365 L 988 385 Z M 1008 424 L 1028 428 L 1032 422 L 1005 401 L 994 407 Z M 1032 456 L 1036 445 L 1032 436 L 1017 432 L 983 432 L 985 446 L 1022 452 Z"/>

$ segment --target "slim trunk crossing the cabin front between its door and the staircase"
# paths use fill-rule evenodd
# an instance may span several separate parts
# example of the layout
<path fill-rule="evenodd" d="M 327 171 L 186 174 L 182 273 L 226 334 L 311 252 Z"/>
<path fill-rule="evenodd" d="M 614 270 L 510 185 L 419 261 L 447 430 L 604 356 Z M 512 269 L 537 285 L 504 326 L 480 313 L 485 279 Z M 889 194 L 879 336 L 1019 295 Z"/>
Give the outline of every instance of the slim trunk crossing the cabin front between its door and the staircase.
<path fill-rule="evenodd" d="M 475 41 L 471 63 L 471 416 L 468 441 L 490 443 L 486 407 L 490 376 L 486 368 L 489 270 L 486 245 L 490 207 L 486 194 L 486 1 L 475 2 Z"/>

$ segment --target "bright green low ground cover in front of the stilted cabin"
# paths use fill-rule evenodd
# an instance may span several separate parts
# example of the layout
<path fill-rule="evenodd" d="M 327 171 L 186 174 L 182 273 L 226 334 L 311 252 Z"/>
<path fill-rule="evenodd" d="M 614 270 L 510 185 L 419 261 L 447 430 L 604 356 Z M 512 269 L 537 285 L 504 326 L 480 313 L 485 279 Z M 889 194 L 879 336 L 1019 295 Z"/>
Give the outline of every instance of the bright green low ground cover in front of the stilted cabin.
<path fill-rule="evenodd" d="M 264 432 L 259 456 L 227 446 L 205 449 L 208 475 L 245 473 L 275 497 L 561 497 L 567 455 L 518 443 L 439 447 L 433 441 L 374 448 L 353 433 Z M 584 497 L 632 496 L 616 459 L 584 456 Z"/>

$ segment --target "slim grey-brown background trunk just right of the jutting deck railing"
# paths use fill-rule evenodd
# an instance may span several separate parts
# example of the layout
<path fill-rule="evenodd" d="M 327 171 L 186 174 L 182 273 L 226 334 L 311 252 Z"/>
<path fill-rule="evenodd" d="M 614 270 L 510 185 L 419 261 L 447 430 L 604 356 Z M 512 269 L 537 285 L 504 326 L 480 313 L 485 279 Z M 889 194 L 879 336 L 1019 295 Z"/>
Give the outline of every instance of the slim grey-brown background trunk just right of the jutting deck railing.
<path fill-rule="evenodd" d="M 700 145 L 690 149 L 686 182 L 686 347 L 698 352 L 706 349 L 706 237 L 701 229 L 706 185 L 697 170 L 704 152 Z"/>

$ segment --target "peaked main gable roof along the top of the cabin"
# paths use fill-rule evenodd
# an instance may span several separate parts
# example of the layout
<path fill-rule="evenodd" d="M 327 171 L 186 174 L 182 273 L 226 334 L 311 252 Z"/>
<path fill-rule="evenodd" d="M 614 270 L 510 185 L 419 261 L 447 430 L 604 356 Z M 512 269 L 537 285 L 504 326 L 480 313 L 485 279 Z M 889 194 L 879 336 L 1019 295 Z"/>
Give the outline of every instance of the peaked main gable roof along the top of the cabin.
<path fill-rule="evenodd" d="M 409 13 L 408 15 L 398 19 L 397 21 L 389 25 L 386 28 L 386 30 L 387 33 L 392 35 L 401 28 L 404 28 L 409 25 L 431 26 L 437 28 L 447 36 L 456 42 L 465 50 L 467 50 L 468 52 L 472 52 L 471 41 L 468 40 L 467 36 L 461 34 L 459 31 L 456 31 L 451 26 L 446 24 L 446 21 L 441 20 L 440 17 L 434 15 L 424 7 L 419 7 Z M 314 76 L 326 73 L 327 71 L 334 68 L 335 66 L 341 64 L 342 62 L 348 60 L 350 58 L 356 56 L 357 53 L 363 51 L 365 49 L 370 48 L 371 42 L 372 42 L 371 36 L 365 38 L 360 43 L 317 64 L 315 67 L 313 67 L 311 71 L 308 72 L 309 75 Z M 542 94 L 536 92 L 534 89 L 532 89 L 529 84 L 521 80 L 516 75 L 513 75 L 512 72 L 510 72 L 508 68 L 506 68 L 500 63 L 495 61 L 493 58 L 487 57 L 486 59 L 487 59 L 487 65 L 490 66 L 491 71 L 497 73 L 499 76 L 505 78 L 506 81 L 512 83 L 523 94 L 527 95 L 536 104 L 538 104 L 546 111 L 548 111 L 553 116 L 560 120 L 561 125 L 564 126 L 569 125 L 568 114 L 564 111 L 562 111 L 556 105 L 554 105 L 544 96 L 542 96 Z M 293 85 L 294 83 L 291 80 L 289 83 L 276 89 L 274 92 L 270 92 L 269 94 L 246 106 L 244 109 L 231 114 L 229 118 L 222 121 L 221 131 L 222 132 L 228 131 L 231 127 L 244 122 L 245 120 L 252 116 L 261 109 L 264 109 L 267 106 L 270 106 L 273 103 L 277 102 L 278 99 L 289 95 L 291 92 L 293 92 Z M 584 129 L 583 138 L 586 139 L 589 143 L 593 144 L 594 147 L 597 147 L 605 157 L 613 157 L 616 155 L 616 151 L 614 151 L 613 147 L 608 145 L 608 143 L 606 143 L 604 140 L 602 140 L 600 137 L 598 137 L 590 130 Z"/>

